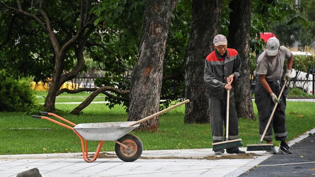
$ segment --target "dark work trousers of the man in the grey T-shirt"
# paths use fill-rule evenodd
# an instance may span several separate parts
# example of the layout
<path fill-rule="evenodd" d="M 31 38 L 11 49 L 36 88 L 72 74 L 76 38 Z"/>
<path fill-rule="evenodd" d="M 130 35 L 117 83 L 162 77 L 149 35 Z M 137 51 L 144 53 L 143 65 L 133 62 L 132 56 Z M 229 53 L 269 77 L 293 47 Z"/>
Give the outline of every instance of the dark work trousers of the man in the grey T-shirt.
<path fill-rule="evenodd" d="M 281 92 L 281 88 L 284 84 L 284 80 L 274 80 L 268 82 L 273 93 L 279 97 Z M 260 138 L 262 137 L 269 117 L 272 113 L 272 110 L 275 104 L 272 101 L 272 97 L 268 94 L 268 92 L 264 89 L 259 81 L 257 81 L 255 86 L 255 103 L 258 109 L 259 116 L 259 134 Z M 287 132 L 285 127 L 285 107 L 286 107 L 286 96 L 287 96 L 287 88 L 285 86 L 284 92 L 281 96 L 281 102 L 278 104 L 277 109 L 273 115 L 273 119 L 270 122 L 268 130 L 264 136 L 265 141 L 272 141 L 272 128 L 275 134 L 276 141 L 285 141 L 287 138 Z"/>

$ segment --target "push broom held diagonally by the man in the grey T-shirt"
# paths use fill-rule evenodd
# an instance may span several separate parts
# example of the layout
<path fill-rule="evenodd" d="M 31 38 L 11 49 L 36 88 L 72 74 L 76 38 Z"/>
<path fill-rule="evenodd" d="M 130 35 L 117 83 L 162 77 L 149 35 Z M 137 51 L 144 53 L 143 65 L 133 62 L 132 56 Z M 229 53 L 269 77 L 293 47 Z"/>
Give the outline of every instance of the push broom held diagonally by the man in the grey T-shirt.
<path fill-rule="evenodd" d="M 283 91 L 284 91 L 284 87 L 285 87 L 285 85 L 286 85 L 286 81 L 287 81 L 287 80 L 285 79 L 285 80 L 284 80 L 284 85 L 282 86 L 282 89 L 281 89 L 281 92 L 280 92 L 280 94 L 279 94 L 278 100 L 280 100 L 281 95 L 282 95 L 282 93 L 283 93 Z M 260 141 L 258 142 L 258 144 L 247 145 L 247 151 L 260 151 L 260 150 L 261 150 L 261 151 L 263 151 L 263 150 L 265 150 L 265 151 L 272 151 L 272 150 L 276 151 L 276 149 L 275 149 L 275 147 L 273 146 L 273 144 L 262 144 L 262 142 L 263 142 L 263 139 L 264 139 L 264 137 L 265 137 L 265 135 L 266 135 L 266 132 L 267 132 L 267 130 L 268 130 L 268 127 L 269 127 L 270 122 L 271 122 L 271 120 L 272 120 L 272 118 L 273 118 L 273 114 L 274 114 L 275 111 L 276 111 L 277 106 L 278 106 L 278 102 L 276 102 L 275 105 L 274 105 L 274 107 L 273 107 L 272 113 L 271 113 L 271 115 L 270 115 L 270 117 L 269 117 L 267 126 L 266 126 L 266 128 L 265 128 L 265 131 L 264 131 L 263 135 L 262 135 L 261 138 L 260 138 Z"/>

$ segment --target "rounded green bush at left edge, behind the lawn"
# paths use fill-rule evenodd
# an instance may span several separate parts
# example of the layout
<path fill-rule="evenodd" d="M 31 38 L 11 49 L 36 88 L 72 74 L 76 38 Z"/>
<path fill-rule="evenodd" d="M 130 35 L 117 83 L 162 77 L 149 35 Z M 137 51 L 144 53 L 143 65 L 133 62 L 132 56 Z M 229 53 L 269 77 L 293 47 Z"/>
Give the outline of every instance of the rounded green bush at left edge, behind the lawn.
<path fill-rule="evenodd" d="M 15 80 L 0 70 L 0 111 L 26 111 L 34 103 L 30 80 Z"/>

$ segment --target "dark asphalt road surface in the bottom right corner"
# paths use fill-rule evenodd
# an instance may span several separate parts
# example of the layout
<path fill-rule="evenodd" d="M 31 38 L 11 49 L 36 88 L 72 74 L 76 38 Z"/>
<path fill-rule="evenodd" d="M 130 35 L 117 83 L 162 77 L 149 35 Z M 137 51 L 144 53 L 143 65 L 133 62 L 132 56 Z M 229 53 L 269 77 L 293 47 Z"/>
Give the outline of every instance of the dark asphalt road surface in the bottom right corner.
<path fill-rule="evenodd" d="M 293 145 L 291 151 L 293 154 L 276 154 L 259 164 L 272 166 L 254 167 L 240 177 L 315 177 L 315 134 Z"/>

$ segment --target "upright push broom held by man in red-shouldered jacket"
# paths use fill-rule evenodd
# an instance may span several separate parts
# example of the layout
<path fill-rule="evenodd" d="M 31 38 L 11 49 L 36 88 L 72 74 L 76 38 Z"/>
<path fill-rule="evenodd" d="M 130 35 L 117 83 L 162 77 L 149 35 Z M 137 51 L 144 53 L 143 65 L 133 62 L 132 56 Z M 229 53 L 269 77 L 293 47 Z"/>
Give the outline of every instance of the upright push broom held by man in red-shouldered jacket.
<path fill-rule="evenodd" d="M 229 82 L 230 83 L 230 82 Z M 226 136 L 225 141 L 213 143 L 212 150 L 228 149 L 238 146 L 243 146 L 242 139 L 229 140 L 229 108 L 230 108 L 230 90 L 227 90 L 226 98 Z"/>

